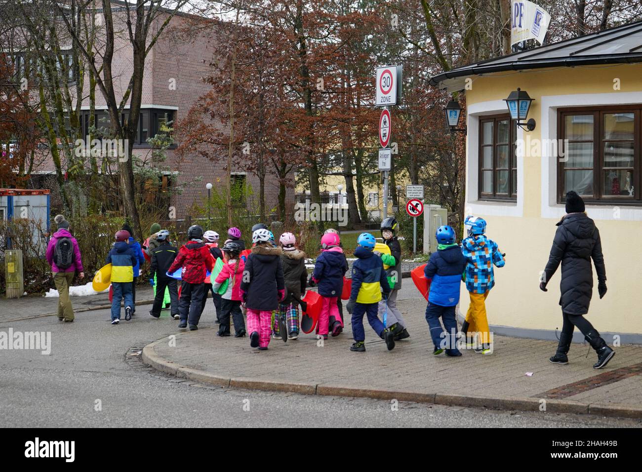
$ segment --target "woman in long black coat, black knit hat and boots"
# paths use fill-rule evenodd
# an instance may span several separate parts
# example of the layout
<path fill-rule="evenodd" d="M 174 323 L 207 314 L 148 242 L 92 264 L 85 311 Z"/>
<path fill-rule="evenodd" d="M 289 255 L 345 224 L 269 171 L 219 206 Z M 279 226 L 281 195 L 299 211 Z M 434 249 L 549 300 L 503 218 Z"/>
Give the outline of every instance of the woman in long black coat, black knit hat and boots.
<path fill-rule="evenodd" d="M 562 263 L 562 280 L 560 281 L 560 305 L 562 306 L 562 333 L 560 333 L 557 353 L 550 362 L 568 364 L 569 348 L 573 340 L 575 326 L 582 331 L 584 338 L 598 354 L 598 362 L 593 369 L 601 369 L 615 355 L 600 333 L 584 318 L 589 311 L 593 295 L 593 268 L 591 259 L 598 274 L 598 292 L 600 299 L 606 293 L 606 270 L 602 256 L 600 232 L 595 223 L 584 213 L 584 200 L 575 191 L 566 194 L 566 214 L 557 223 L 557 232 L 553 240 L 551 255 L 542 275 L 539 288 L 547 292 L 546 284 L 550 281 L 557 267 Z"/>

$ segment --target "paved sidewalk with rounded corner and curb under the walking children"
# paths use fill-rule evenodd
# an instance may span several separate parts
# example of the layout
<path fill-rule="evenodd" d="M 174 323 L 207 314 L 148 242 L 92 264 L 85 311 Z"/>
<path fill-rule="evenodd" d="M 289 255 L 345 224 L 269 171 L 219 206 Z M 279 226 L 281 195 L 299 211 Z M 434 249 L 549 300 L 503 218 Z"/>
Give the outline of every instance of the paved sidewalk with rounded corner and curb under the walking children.
<path fill-rule="evenodd" d="M 642 346 L 616 348 L 600 370 L 592 367 L 592 349 L 585 358 L 588 345 L 573 344 L 569 365 L 554 365 L 548 358 L 555 342 L 523 338 L 495 337 L 495 352 L 487 356 L 433 356 L 425 302 L 403 300 L 399 308 L 412 337 L 393 351 L 366 326 L 367 351 L 352 353 L 349 323 L 322 346 L 302 335 L 287 343 L 273 339 L 262 352 L 247 337 L 220 338 L 216 326 L 202 326 L 179 333 L 175 347 L 168 338 L 148 345 L 143 358 L 159 370 L 223 387 L 642 418 Z"/>

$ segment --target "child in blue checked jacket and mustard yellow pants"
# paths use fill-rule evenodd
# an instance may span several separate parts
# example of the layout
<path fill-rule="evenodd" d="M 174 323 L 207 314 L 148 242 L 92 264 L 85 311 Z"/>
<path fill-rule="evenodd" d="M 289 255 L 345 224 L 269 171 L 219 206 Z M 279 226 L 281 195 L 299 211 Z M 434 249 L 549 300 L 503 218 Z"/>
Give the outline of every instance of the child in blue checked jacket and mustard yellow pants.
<path fill-rule="evenodd" d="M 478 336 L 476 353 L 492 354 L 486 299 L 490 289 L 495 285 L 493 265 L 503 267 L 504 254 L 499 251 L 497 243 L 484 234 L 486 221 L 483 218 L 467 216 L 464 224 L 468 230 L 468 237 L 462 241 L 462 254 L 466 259 L 464 274 L 471 304 L 462 331 L 466 333 L 467 344 L 473 344 L 472 338 Z"/>

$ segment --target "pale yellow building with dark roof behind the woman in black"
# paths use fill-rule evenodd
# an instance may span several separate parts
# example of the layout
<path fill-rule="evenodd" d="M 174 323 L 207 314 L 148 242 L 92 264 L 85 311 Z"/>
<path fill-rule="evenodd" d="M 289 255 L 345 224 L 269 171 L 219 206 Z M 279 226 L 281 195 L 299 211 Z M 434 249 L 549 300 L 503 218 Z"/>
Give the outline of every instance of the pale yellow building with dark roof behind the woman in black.
<path fill-rule="evenodd" d="M 600 230 L 609 288 L 600 300 L 593 274 L 587 319 L 609 343 L 613 335 L 642 343 L 641 28 L 636 22 L 431 79 L 465 92 L 466 213 L 485 218 L 488 236 L 507 254 L 487 300 L 496 334 L 554 339 L 561 329 L 561 268 L 548 292 L 539 279 L 573 189 Z M 533 130 L 508 114 L 505 99 L 518 87 L 534 99 Z M 464 313 L 468 302 L 464 287 Z"/>

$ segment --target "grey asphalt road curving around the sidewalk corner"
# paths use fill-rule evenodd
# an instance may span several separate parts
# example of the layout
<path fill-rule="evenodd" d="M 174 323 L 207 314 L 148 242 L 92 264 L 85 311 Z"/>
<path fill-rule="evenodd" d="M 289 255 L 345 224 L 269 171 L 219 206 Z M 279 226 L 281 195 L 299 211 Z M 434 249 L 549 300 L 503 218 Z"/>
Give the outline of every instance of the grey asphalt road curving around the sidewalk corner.
<path fill-rule="evenodd" d="M 406 282 L 404 280 L 404 282 Z M 414 297 L 408 280 L 400 298 Z M 416 291 L 414 292 L 417 293 Z M 418 300 L 419 304 L 424 302 Z M 523 413 L 216 389 L 178 382 L 139 361 L 143 345 L 177 332 L 176 321 L 137 317 L 119 326 L 107 310 L 0 324 L 0 331 L 50 331 L 51 354 L 0 351 L 0 424 L 4 427 L 392 426 L 605 427 L 639 421 Z M 209 302 L 202 319 L 214 322 Z"/>

